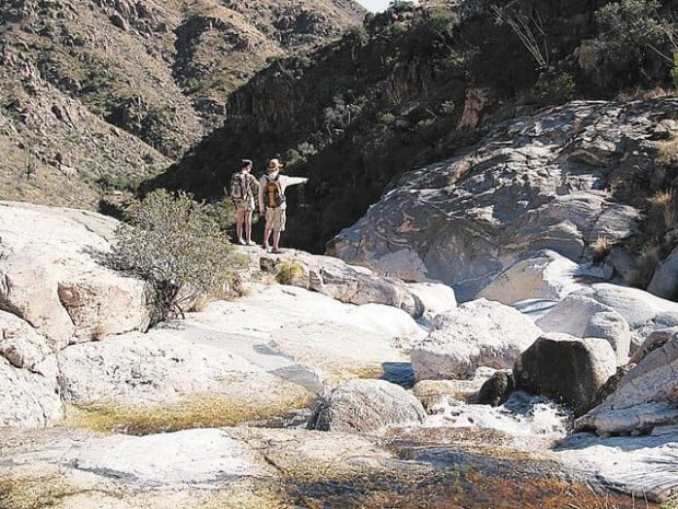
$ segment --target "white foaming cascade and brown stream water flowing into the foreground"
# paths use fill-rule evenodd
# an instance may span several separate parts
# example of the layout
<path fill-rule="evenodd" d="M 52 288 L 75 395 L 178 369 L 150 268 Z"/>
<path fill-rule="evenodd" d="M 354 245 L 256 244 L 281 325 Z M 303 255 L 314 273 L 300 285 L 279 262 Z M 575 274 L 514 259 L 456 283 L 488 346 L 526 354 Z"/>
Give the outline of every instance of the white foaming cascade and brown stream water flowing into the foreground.
<path fill-rule="evenodd" d="M 443 400 L 422 426 L 389 430 L 393 461 L 354 476 L 290 479 L 295 507 L 313 509 L 653 509 L 539 453 L 568 433 L 571 416 L 514 393 L 501 407 Z M 290 420 L 292 423 L 293 420 Z M 302 427 L 301 421 L 294 426 Z"/>

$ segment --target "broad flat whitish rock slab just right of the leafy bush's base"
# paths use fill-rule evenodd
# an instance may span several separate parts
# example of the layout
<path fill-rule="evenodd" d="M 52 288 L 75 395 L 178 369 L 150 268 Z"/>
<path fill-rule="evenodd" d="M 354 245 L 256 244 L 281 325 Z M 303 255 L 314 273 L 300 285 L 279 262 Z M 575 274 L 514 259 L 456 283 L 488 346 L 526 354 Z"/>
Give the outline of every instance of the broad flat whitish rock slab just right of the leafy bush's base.
<path fill-rule="evenodd" d="M 287 365 L 276 370 L 303 367 L 328 385 L 355 377 L 411 378 L 409 349 L 426 334 L 397 308 L 344 304 L 282 285 L 250 286 L 250 294 L 215 302 L 186 322 L 199 329 L 173 334 L 221 339 L 232 348 L 242 344 L 238 355 L 258 366 L 284 358 Z M 253 357 L 253 348 L 268 355 Z"/>

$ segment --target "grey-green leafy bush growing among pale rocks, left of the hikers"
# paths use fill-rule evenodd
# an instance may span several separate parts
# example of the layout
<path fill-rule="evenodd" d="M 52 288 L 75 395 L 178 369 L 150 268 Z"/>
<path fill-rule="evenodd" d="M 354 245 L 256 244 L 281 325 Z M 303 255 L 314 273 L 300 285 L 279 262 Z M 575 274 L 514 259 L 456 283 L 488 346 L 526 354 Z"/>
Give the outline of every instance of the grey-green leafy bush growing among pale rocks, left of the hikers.
<path fill-rule="evenodd" d="M 155 190 L 133 200 L 125 215 L 110 259 L 151 284 L 159 321 L 183 317 L 197 297 L 227 289 L 242 267 L 210 207 L 185 193 Z"/>

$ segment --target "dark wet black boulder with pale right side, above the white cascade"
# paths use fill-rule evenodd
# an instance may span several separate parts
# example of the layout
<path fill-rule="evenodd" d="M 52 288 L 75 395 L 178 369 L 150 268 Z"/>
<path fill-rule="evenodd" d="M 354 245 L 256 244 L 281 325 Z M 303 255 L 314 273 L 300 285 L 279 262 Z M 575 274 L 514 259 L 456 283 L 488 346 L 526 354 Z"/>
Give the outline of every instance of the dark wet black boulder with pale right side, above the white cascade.
<path fill-rule="evenodd" d="M 523 352 L 513 374 L 517 389 L 562 401 L 582 415 L 616 368 L 615 351 L 605 339 L 548 333 Z"/>

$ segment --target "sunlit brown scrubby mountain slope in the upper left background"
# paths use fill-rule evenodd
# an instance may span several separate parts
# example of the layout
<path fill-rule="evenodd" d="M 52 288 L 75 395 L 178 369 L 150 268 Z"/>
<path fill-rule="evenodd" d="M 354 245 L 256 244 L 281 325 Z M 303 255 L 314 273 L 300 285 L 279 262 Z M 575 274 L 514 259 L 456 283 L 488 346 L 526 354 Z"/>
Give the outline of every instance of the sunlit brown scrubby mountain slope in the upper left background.
<path fill-rule="evenodd" d="M 157 173 L 221 123 L 227 94 L 267 58 L 337 37 L 364 12 L 350 0 L 2 2 L 5 197 L 91 207 L 94 181 Z"/>

